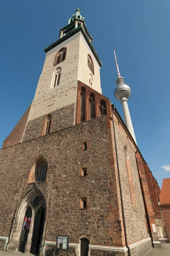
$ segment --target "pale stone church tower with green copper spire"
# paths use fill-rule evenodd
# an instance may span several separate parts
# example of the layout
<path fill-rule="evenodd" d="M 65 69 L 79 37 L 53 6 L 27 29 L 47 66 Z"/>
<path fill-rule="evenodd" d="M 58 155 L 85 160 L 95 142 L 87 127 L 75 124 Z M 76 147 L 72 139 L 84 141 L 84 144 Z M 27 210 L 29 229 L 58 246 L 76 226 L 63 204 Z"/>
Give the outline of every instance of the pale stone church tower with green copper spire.
<path fill-rule="evenodd" d="M 78 81 L 102 93 L 102 63 L 91 41 L 92 37 L 78 8 L 68 20 L 68 25 L 60 29 L 59 39 L 44 49 L 45 63 L 22 142 L 75 125 Z M 42 122 L 45 124 L 40 131 Z M 47 123 L 51 125 L 50 131 Z"/>

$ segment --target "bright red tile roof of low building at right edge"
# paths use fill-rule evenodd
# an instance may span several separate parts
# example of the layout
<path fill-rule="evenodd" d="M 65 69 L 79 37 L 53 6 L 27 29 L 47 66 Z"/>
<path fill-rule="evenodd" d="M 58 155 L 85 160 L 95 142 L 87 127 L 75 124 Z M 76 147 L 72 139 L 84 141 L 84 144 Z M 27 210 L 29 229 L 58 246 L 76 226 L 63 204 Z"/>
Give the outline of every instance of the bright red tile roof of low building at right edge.
<path fill-rule="evenodd" d="M 170 178 L 163 179 L 160 195 L 161 204 L 170 204 Z"/>

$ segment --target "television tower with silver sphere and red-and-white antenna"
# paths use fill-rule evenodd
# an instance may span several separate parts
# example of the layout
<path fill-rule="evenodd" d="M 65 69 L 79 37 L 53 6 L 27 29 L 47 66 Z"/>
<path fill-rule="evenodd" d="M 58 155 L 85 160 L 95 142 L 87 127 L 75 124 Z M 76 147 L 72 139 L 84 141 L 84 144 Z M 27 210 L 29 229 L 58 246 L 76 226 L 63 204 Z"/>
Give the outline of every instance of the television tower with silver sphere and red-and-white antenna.
<path fill-rule="evenodd" d="M 130 87 L 127 84 L 125 84 L 124 78 L 122 76 L 120 76 L 115 50 L 114 50 L 114 57 L 115 57 L 115 61 L 116 61 L 116 68 L 117 68 L 117 74 L 118 74 L 118 78 L 116 79 L 116 88 L 114 90 L 114 96 L 122 104 L 125 125 L 127 126 L 127 129 L 129 130 L 130 134 L 132 135 L 133 140 L 136 142 L 133 125 L 132 125 L 132 121 L 130 118 L 129 108 L 127 105 L 127 99 L 130 97 L 131 90 L 130 90 Z M 137 145 L 137 143 L 136 143 L 136 145 Z"/>

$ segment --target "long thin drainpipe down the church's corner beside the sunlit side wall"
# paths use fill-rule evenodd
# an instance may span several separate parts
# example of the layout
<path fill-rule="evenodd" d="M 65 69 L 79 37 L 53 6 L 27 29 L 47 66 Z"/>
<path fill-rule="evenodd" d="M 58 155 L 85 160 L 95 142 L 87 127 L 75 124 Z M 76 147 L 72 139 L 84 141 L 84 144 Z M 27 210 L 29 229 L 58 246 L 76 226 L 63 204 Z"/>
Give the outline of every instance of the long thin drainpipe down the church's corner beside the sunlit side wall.
<path fill-rule="evenodd" d="M 113 107 L 113 110 L 114 109 L 115 109 L 115 106 Z M 123 226 L 124 226 L 124 231 L 125 231 L 125 243 L 126 243 L 126 247 L 127 247 L 127 250 L 128 250 L 128 256 L 131 256 L 130 247 L 127 244 L 127 229 L 126 229 L 125 211 L 124 211 L 124 204 L 123 204 L 122 185 L 121 185 L 121 179 L 120 179 L 119 158 L 118 158 L 118 152 L 117 152 L 117 143 L 116 143 L 116 133 L 115 133 L 114 113 L 113 113 L 113 111 L 112 111 L 112 115 L 113 115 L 114 143 L 115 143 L 115 150 L 116 150 L 116 162 L 117 162 L 117 170 L 118 170 L 118 177 L 119 177 L 120 198 L 121 198 L 122 215 L 123 215 Z"/>

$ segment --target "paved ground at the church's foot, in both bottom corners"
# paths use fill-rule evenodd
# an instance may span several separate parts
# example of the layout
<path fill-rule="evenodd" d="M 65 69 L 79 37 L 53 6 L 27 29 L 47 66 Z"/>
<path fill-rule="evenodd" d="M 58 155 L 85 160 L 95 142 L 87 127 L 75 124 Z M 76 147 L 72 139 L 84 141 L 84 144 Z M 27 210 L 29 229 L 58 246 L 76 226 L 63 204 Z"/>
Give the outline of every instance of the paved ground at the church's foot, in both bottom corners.
<path fill-rule="evenodd" d="M 152 249 L 147 256 L 170 256 L 170 243 L 161 244 L 162 248 Z M 20 252 L 5 252 L 0 251 L 0 256 L 34 256 L 31 253 L 20 253 Z M 141 255 L 143 256 L 143 255 Z"/>

